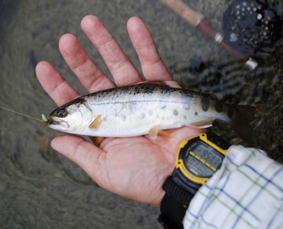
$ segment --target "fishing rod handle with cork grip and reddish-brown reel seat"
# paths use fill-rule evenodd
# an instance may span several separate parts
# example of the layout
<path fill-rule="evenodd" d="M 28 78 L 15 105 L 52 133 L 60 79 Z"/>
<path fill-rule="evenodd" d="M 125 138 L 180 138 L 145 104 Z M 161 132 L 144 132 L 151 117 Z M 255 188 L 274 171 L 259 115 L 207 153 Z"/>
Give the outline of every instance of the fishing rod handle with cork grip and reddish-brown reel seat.
<path fill-rule="evenodd" d="M 175 13 L 180 15 L 184 20 L 186 20 L 192 26 L 202 30 L 204 34 L 208 37 L 214 39 L 223 48 L 225 48 L 233 57 L 237 58 L 239 61 L 244 62 L 250 69 L 255 69 L 258 63 L 253 59 L 247 59 L 239 51 L 233 49 L 229 44 L 223 41 L 223 35 L 214 29 L 209 22 L 204 18 L 204 16 L 194 10 L 192 10 L 188 5 L 186 5 L 181 0 L 160 0 L 163 4 L 171 8 Z"/>

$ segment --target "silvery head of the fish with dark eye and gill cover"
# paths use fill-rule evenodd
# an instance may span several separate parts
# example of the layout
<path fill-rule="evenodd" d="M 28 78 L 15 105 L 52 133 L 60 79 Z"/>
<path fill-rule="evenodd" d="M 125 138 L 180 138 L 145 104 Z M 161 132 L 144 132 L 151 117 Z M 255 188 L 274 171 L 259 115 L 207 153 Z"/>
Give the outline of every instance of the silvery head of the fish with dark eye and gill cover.
<path fill-rule="evenodd" d="M 73 133 L 88 127 L 92 120 L 92 111 L 85 103 L 63 105 L 47 116 L 46 125 L 62 132 Z"/>

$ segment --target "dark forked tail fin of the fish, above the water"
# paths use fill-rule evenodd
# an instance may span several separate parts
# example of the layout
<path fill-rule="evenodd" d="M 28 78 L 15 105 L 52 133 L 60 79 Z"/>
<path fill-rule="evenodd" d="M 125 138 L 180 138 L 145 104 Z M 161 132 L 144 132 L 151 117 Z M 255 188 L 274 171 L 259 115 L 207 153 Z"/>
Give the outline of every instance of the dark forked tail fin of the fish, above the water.
<path fill-rule="evenodd" d="M 258 110 L 255 107 L 246 105 L 233 105 L 238 112 L 230 120 L 230 127 L 245 142 L 251 143 L 254 137 L 254 131 L 250 126 L 250 122 L 255 120 Z"/>

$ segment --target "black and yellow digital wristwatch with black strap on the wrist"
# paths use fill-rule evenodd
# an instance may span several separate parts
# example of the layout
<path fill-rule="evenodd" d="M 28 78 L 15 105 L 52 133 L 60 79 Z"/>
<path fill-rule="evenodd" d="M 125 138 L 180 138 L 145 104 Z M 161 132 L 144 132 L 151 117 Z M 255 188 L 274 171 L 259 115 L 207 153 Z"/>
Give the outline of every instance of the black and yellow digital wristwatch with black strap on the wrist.
<path fill-rule="evenodd" d="M 162 189 L 158 221 L 164 229 L 182 229 L 189 204 L 206 181 L 221 167 L 230 144 L 214 133 L 200 134 L 181 142 L 175 169 Z"/>

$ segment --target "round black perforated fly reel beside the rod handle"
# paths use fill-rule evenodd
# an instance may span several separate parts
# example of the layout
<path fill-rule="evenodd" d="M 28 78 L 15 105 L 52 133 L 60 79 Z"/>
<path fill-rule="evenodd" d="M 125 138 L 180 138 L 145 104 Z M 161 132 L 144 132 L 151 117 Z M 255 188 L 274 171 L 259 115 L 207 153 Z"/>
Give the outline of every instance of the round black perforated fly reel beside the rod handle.
<path fill-rule="evenodd" d="M 224 41 L 247 58 L 272 52 L 282 26 L 279 7 L 269 0 L 236 0 L 223 14 Z"/>

